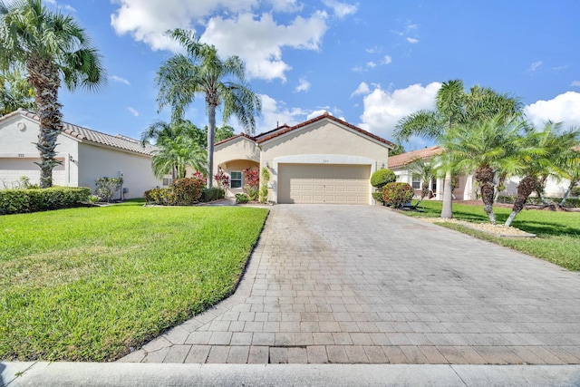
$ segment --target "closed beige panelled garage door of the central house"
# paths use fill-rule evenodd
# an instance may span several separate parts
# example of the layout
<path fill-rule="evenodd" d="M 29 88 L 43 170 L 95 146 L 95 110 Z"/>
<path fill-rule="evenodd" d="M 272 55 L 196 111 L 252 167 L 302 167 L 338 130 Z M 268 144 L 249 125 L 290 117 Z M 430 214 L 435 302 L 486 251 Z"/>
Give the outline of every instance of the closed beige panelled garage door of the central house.
<path fill-rule="evenodd" d="M 280 164 L 278 203 L 369 204 L 370 165 Z"/>

